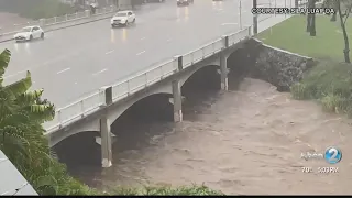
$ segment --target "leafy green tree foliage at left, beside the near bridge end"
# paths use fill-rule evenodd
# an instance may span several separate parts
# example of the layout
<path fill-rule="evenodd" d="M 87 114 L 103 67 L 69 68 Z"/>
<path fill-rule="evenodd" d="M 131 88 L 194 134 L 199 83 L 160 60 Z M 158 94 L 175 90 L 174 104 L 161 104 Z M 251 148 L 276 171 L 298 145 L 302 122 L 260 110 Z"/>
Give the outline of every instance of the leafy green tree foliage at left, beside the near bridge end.
<path fill-rule="evenodd" d="M 25 78 L 3 85 L 10 57 L 8 50 L 0 54 L 0 150 L 40 195 L 85 195 L 88 188 L 67 175 L 43 135 L 42 123 L 55 116 L 54 105 L 41 99 L 43 89 L 29 90 L 30 72 Z"/>

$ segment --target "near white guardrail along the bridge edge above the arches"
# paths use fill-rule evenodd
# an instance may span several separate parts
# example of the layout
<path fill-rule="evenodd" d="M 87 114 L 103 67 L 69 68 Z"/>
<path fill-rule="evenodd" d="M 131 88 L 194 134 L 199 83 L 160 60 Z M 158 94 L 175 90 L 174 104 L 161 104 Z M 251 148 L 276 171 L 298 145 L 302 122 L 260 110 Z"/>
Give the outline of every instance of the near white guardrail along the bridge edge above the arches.
<path fill-rule="evenodd" d="M 228 46 L 232 46 L 240 41 L 251 36 L 251 28 L 243 29 L 237 33 L 228 35 Z M 195 51 L 183 55 L 183 69 L 202 61 L 227 47 L 226 36 L 204 45 Z M 147 70 L 129 77 L 125 80 L 112 85 L 112 102 L 127 98 L 145 87 L 148 87 L 178 72 L 178 57 L 174 57 L 163 64 L 158 64 Z M 54 120 L 44 123 L 47 133 L 66 127 L 88 114 L 98 111 L 106 106 L 105 90 L 79 99 L 66 107 L 56 110 Z"/>

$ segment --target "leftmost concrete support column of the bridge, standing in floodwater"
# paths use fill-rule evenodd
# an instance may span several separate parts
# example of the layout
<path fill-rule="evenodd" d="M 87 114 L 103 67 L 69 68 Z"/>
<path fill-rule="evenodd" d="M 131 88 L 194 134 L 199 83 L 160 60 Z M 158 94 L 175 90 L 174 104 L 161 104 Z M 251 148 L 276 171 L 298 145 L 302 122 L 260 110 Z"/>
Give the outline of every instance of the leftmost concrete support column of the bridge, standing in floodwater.
<path fill-rule="evenodd" d="M 112 103 L 112 87 L 101 88 L 105 91 L 105 105 Z M 108 119 L 108 111 L 100 118 L 100 135 L 101 135 L 101 165 L 102 167 L 110 167 L 112 165 L 112 141 L 110 121 Z"/>

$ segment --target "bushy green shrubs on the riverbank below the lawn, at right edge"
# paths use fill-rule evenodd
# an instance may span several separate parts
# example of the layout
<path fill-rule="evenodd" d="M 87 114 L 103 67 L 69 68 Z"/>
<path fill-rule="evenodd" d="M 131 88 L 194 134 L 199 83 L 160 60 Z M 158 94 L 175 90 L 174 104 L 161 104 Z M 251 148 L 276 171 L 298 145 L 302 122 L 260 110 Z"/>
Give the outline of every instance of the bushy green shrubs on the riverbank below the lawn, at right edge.
<path fill-rule="evenodd" d="M 352 65 L 323 59 L 292 86 L 295 99 L 317 99 L 327 111 L 352 116 Z"/>

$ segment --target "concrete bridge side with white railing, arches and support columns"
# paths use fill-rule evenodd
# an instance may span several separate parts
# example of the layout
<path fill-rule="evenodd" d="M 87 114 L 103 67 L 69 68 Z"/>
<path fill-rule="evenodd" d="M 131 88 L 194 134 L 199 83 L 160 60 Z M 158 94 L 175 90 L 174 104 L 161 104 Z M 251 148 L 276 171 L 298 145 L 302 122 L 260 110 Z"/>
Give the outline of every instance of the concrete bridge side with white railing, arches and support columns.
<path fill-rule="evenodd" d="M 58 109 L 55 120 L 45 123 L 51 146 L 66 138 L 97 131 L 101 139 L 102 166 L 112 165 L 111 123 L 135 102 L 152 95 L 168 94 L 174 105 L 175 122 L 183 121 L 180 87 L 206 66 L 219 68 L 221 88 L 228 89 L 227 58 L 251 37 L 251 28 L 221 36 L 185 55 L 176 56 L 116 85 L 102 87 L 92 95 Z"/>

